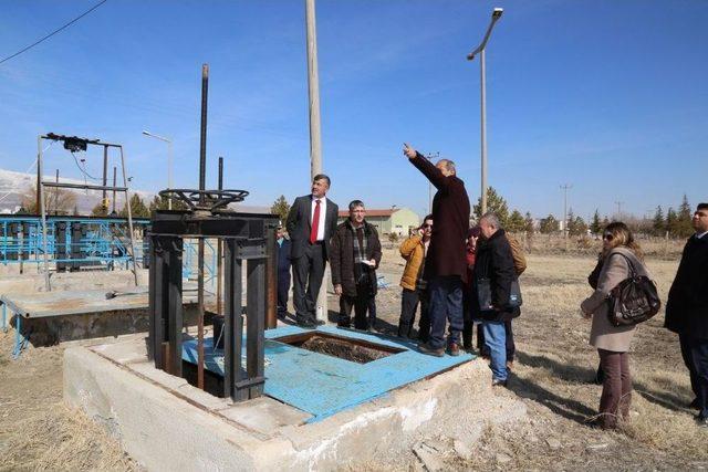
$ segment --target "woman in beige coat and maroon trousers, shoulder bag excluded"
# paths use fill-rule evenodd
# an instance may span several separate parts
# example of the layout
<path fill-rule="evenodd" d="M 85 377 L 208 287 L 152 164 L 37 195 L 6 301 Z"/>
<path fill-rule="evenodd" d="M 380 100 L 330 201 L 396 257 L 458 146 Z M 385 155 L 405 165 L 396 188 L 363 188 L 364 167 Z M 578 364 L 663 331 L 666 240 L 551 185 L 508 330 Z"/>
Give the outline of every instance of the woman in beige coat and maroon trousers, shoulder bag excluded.
<path fill-rule="evenodd" d="M 607 297 L 612 289 L 632 274 L 648 276 L 643 254 L 623 222 L 613 222 L 603 233 L 602 270 L 593 294 L 581 304 L 583 317 L 592 317 L 590 344 L 597 348 L 603 371 L 600 416 L 592 426 L 613 429 L 626 420 L 632 400 L 629 345 L 636 325 L 615 326 L 610 321 Z M 632 264 L 632 266 L 629 265 Z"/>

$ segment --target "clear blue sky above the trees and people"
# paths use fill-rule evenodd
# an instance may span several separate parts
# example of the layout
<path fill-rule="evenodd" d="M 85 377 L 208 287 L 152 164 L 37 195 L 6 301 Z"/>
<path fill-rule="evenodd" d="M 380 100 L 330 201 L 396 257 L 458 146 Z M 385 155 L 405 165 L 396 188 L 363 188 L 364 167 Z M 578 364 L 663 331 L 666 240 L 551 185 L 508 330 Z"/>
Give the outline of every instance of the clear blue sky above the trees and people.
<path fill-rule="evenodd" d="M 95 1 L 3 2 L 4 57 Z M 324 170 L 330 197 L 423 213 L 427 182 L 403 141 L 454 159 L 479 197 L 480 41 L 487 50 L 489 183 L 511 208 L 583 217 L 708 200 L 708 2 L 319 0 Z M 251 204 L 309 191 L 304 1 L 110 0 L 0 65 L 0 167 L 24 171 L 37 135 L 125 146 L 144 190 L 198 186 L 201 64 L 210 65 L 207 178 Z M 101 156 L 88 154 L 88 172 Z M 79 177 L 50 149 L 48 170 Z M 48 174 L 51 174 L 48 171 Z"/>

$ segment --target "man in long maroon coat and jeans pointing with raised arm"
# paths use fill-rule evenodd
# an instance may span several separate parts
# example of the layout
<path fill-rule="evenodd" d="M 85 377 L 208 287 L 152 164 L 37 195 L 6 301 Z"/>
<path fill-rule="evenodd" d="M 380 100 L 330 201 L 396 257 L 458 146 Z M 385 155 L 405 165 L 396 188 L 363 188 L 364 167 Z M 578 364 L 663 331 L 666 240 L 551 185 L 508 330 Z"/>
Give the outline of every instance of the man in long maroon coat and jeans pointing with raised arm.
<path fill-rule="evenodd" d="M 433 198 L 433 235 L 424 277 L 430 298 L 430 337 L 419 346 L 434 356 L 445 353 L 445 325 L 449 321 L 448 353 L 459 355 L 462 331 L 462 282 L 467 277 L 466 239 L 469 229 L 469 198 L 457 177 L 455 162 L 440 159 L 435 166 L 405 145 L 404 154 L 438 189 Z"/>

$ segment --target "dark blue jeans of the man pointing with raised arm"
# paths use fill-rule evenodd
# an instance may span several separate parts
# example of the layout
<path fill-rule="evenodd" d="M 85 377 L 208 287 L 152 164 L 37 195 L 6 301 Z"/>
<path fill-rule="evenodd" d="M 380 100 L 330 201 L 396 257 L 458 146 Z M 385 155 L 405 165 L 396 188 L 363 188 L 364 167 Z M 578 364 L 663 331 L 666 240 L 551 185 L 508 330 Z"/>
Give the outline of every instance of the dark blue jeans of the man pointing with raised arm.
<path fill-rule="evenodd" d="M 462 331 L 462 280 L 457 275 L 434 277 L 428 285 L 430 292 L 430 337 L 434 349 L 445 347 L 445 324 L 450 322 L 448 343 L 460 343 Z"/>

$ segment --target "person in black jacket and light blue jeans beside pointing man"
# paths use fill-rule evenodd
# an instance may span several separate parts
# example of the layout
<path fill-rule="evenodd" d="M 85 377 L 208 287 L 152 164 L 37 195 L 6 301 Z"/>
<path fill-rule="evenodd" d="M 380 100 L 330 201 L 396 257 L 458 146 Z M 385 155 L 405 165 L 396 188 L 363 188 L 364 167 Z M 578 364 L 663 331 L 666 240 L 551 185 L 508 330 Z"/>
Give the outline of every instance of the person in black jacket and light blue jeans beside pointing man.
<path fill-rule="evenodd" d="M 511 245 L 494 213 L 487 213 L 479 220 L 481 241 L 475 254 L 475 280 L 472 283 L 472 306 L 479 310 L 485 333 L 485 347 L 489 349 L 493 386 L 506 386 L 507 340 L 504 322 L 521 314 L 519 307 L 509 305 L 511 283 L 517 273 L 513 268 Z M 491 306 L 479 300 L 479 287 L 488 283 Z M 482 306 L 485 304 L 486 306 Z"/>

